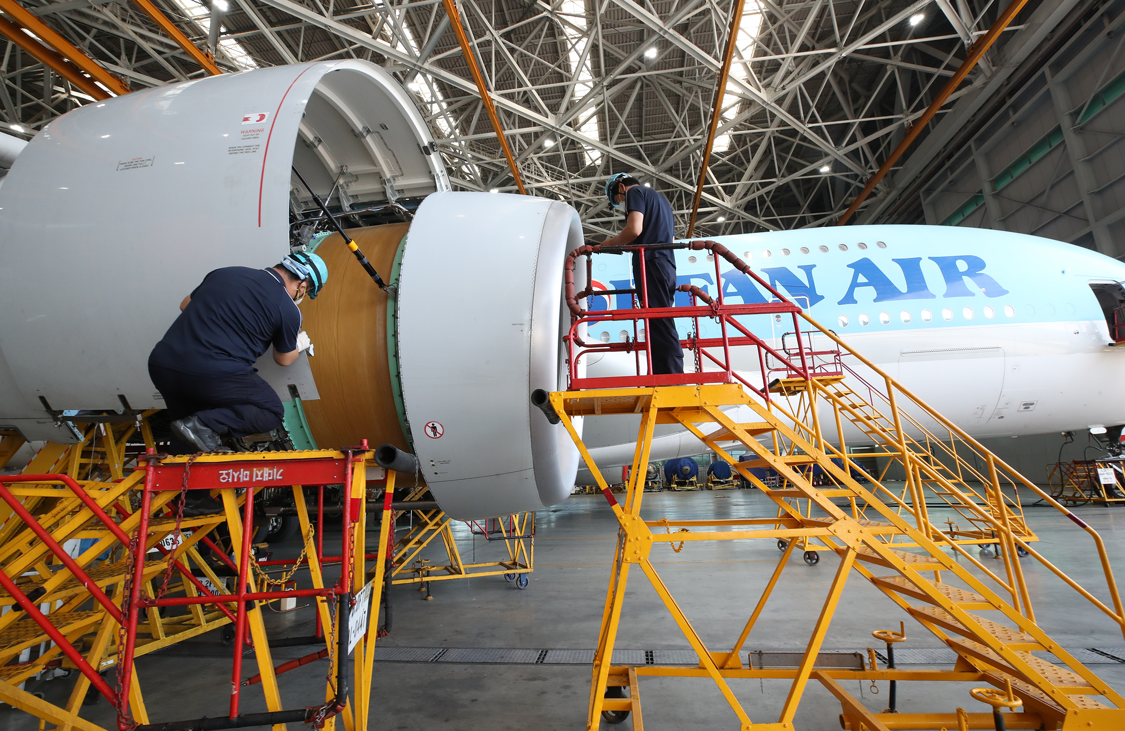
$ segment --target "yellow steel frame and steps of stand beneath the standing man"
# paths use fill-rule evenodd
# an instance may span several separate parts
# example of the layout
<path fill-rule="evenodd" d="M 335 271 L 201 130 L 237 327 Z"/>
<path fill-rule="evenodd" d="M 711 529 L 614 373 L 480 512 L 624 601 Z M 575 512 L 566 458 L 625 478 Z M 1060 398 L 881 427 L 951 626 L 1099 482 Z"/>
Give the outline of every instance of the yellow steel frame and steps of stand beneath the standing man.
<path fill-rule="evenodd" d="M 843 343 L 840 345 L 843 346 Z M 845 728 L 966 728 L 960 725 L 958 719 L 969 719 L 968 722 L 972 728 L 990 728 L 978 725 L 984 721 L 974 718 L 984 714 L 966 715 L 963 710 L 952 707 L 951 712 L 938 714 L 871 713 L 839 684 L 840 680 L 861 678 L 896 682 L 974 682 L 988 683 L 998 688 L 1015 688 L 1019 692 L 1025 712 L 1004 714 L 1006 719 L 1010 719 L 1010 728 L 1096 728 L 1102 731 L 1125 728 L 1125 697 L 1059 647 L 1036 625 L 1027 583 L 1018 558 L 1022 552 L 1032 556 L 1033 560 L 1040 561 L 1110 616 L 1125 633 L 1125 612 L 1100 536 L 1076 520 L 1095 539 L 1113 597 L 1113 608 L 1034 551 L 1030 547 L 1034 536 L 1028 534 L 1018 505 L 1012 505 L 1011 499 L 1002 494 L 1002 487 L 1006 482 L 1018 482 L 1020 487 L 1040 494 L 1068 515 L 1069 511 L 1004 464 L 972 437 L 925 407 L 900 385 L 886 378 L 885 398 L 890 404 L 888 409 L 890 416 L 886 417 L 879 414 L 870 403 L 858 399 L 850 389 L 845 390 L 840 378 L 810 377 L 808 380 L 800 379 L 800 385 L 798 380 L 791 379 L 782 388 L 793 392 L 801 388 L 806 389 L 807 403 L 827 404 L 825 415 L 828 418 L 821 416 L 819 408 L 806 408 L 804 413 L 809 418 L 804 421 L 798 416 L 800 410 L 794 414 L 776 399 L 770 403 L 759 401 L 752 398 L 738 385 L 600 389 L 550 395 L 550 406 L 570 433 L 586 466 L 598 481 L 620 526 L 593 665 L 587 731 L 596 731 L 603 712 L 632 713 L 633 728 L 638 730 L 642 728 L 638 686 L 640 676 L 710 678 L 727 700 L 738 719 L 739 728 L 744 731 L 792 729 L 798 705 L 810 680 L 819 682 L 840 701 L 842 723 Z M 961 440 L 964 450 L 972 449 L 987 464 L 987 475 L 976 473 L 983 478 L 980 486 L 980 490 L 986 493 L 983 500 L 981 494 L 971 489 L 965 479 L 968 471 L 975 469 L 964 463 L 968 454 L 964 451 L 958 453 L 951 449 L 951 445 L 946 445 L 945 452 L 940 454 L 936 453 L 937 450 L 926 451 L 927 439 L 919 441 L 917 437 L 911 437 L 903 428 L 903 423 L 911 417 L 897 407 L 896 398 L 903 401 L 909 399 L 911 407 L 926 410 L 928 417 L 936 419 Z M 732 422 L 722 410 L 722 407 L 730 406 L 748 407 L 755 413 L 757 421 Z M 572 421 L 577 416 L 595 413 L 641 415 L 632 478 L 623 505 L 611 494 L 609 484 L 598 471 Z M 876 444 L 882 445 L 885 453 L 900 460 L 907 477 L 906 490 L 908 497 L 912 499 L 903 499 L 879 480 L 872 480 L 868 488 L 853 477 L 844 439 L 844 424 L 847 422 L 862 425 L 865 433 Z M 657 424 L 684 426 L 708 449 L 730 462 L 746 479 L 771 497 L 781 511 L 780 516 L 645 521 L 640 516 L 644 485 L 638 476 L 645 475 Z M 701 431 L 701 425 L 705 424 L 718 424 L 718 430 L 704 433 Z M 924 433 L 929 434 L 928 431 Z M 749 467 L 755 466 L 755 462 L 738 462 L 737 458 L 719 446 L 720 442 L 731 441 L 753 452 L 758 458 L 757 462 L 768 466 L 782 476 L 783 484 L 768 487 L 750 472 Z M 948 457 L 951 453 L 952 458 Z M 940 457 L 952 459 L 952 463 L 943 461 Z M 840 464 L 837 464 L 834 458 L 839 459 Z M 801 466 L 813 463 L 819 464 L 831 477 L 834 486 L 812 485 L 808 471 L 801 469 Z M 956 502 L 957 507 L 986 526 L 989 542 L 1000 545 L 1005 566 L 1004 577 L 998 576 L 965 550 L 963 544 L 975 543 L 981 536 L 951 535 L 929 521 L 925 499 L 921 499 L 927 484 L 939 486 L 951 500 Z M 791 503 L 791 498 L 808 500 L 808 509 L 798 509 Z M 847 507 L 838 506 L 832 498 L 846 498 Z M 816 512 L 812 511 L 812 506 L 817 508 Z M 871 520 L 872 517 L 879 520 Z M 663 532 L 655 533 L 654 529 L 670 535 L 665 535 Z M 678 532 L 673 533 L 674 529 L 678 529 Z M 785 542 L 781 561 L 748 621 L 730 646 L 730 650 L 710 650 L 672 596 L 649 559 L 657 538 L 673 542 L 673 548 L 676 548 L 676 542 L 694 541 L 767 539 Z M 813 539 L 837 553 L 839 565 L 799 667 L 795 669 L 744 667 L 740 652 L 776 587 L 794 547 L 799 542 L 804 543 Z M 681 547 L 683 544 L 681 543 Z M 921 550 L 918 552 L 901 550 L 911 547 Z M 943 549 L 952 550 L 961 560 Z M 637 565 L 649 579 L 695 650 L 700 658 L 699 667 L 612 665 L 611 658 L 622 617 L 626 585 L 633 565 Z M 878 576 L 873 570 L 875 567 L 889 569 L 891 575 Z M 954 669 L 901 670 L 872 667 L 860 671 L 818 667 L 820 648 L 845 583 L 853 570 L 874 584 L 892 602 L 953 649 L 958 656 Z M 942 576 L 946 572 L 969 588 L 944 584 Z M 984 578 L 981 578 L 981 575 Z M 921 604 L 916 605 L 911 601 Z M 982 610 L 999 612 L 1000 619 L 1007 624 L 984 619 L 975 613 Z M 1050 650 L 1062 665 L 1040 659 L 1032 655 L 1035 650 Z M 728 680 L 766 677 L 786 678 L 792 683 L 778 720 L 774 723 L 754 723 L 735 696 Z M 621 697 L 618 691 L 623 687 L 629 688 L 628 697 Z M 608 697 L 608 692 L 613 695 Z M 991 723 L 991 720 L 988 722 Z M 1034 727 L 1028 727 L 1027 723 L 1034 723 Z"/>

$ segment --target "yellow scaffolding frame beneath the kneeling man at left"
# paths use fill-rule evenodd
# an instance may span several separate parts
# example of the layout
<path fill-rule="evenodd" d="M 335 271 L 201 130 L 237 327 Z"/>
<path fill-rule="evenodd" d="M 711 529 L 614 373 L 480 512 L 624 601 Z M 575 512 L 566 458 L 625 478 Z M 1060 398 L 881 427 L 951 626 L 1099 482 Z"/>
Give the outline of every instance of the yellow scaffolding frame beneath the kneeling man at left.
<path fill-rule="evenodd" d="M 112 531 L 107 530 L 78 494 L 64 484 L 62 476 L 75 480 L 89 498 L 114 518 L 117 527 L 132 536 L 130 542 L 142 540 L 136 533 L 142 520 L 138 506 L 146 472 L 143 468 L 136 468 L 132 461 L 136 454 L 126 453 L 126 445 L 134 439 L 137 430 L 144 443 L 152 448 L 153 440 L 147 422 L 138 418 L 136 422 L 126 423 L 87 424 L 82 427 L 83 437 L 80 442 L 48 443 L 39 450 L 24 473 L 29 476 L 57 473 L 60 479 L 43 480 L 39 477 L 35 481 L 9 481 L 6 486 L 8 493 L 34 518 L 36 523 L 34 527 L 16 515 L 7 503 L 0 504 L 7 509 L 6 521 L 0 526 L 0 570 L 12 577 L 21 594 L 30 595 L 36 604 L 50 607 L 46 613 L 47 621 L 79 649 L 84 662 L 98 671 L 107 670 L 118 661 L 119 624 L 98 602 L 93 603 L 92 610 L 88 607 L 91 604 L 90 599 L 96 598 L 93 593 L 100 590 L 118 611 L 120 610 L 125 587 L 132 578 L 128 572 L 129 551 Z M 22 443 L 24 440 L 18 433 L 0 433 L 0 464 L 6 463 Z M 190 462 L 190 467 L 198 470 L 214 463 L 231 464 L 232 468 L 263 462 L 296 464 L 302 460 L 343 460 L 345 455 L 333 450 L 313 450 L 205 454 L 191 458 L 148 455 L 148 459 L 156 460 L 161 466 Z M 353 572 L 352 592 L 359 593 L 363 589 L 367 575 L 363 568 L 366 524 L 366 500 L 362 499 L 366 495 L 363 455 L 353 459 L 352 463 L 349 495 L 353 498 L 353 505 L 358 506 L 359 514 L 356 516 L 357 529 L 353 531 L 353 540 L 345 558 L 352 560 L 357 567 Z M 148 530 L 143 540 L 150 551 L 159 550 L 162 556 L 156 560 L 146 560 L 141 569 L 143 590 L 147 596 L 154 597 L 161 594 L 169 597 L 199 597 L 199 587 L 205 586 L 205 581 L 209 581 L 212 587 L 225 585 L 224 579 L 216 575 L 215 567 L 204 558 L 200 547 L 215 538 L 220 529 L 226 531 L 231 545 L 240 544 L 243 533 L 240 506 L 244 505 L 248 494 L 256 494 L 266 488 L 258 485 L 248 488 L 216 487 L 217 489 L 212 489 L 210 494 L 220 500 L 220 512 L 212 515 L 184 516 L 179 521 L 171 515 L 171 505 L 180 491 L 165 489 L 152 494 Z M 323 571 L 315 550 L 315 535 L 304 490 L 299 485 L 291 486 L 291 489 L 305 536 L 307 556 L 307 563 L 298 568 L 309 571 L 313 588 L 323 589 L 325 588 Z M 390 509 L 394 490 L 395 472 L 388 471 L 379 550 L 372 569 L 371 613 L 375 615 L 378 614 L 390 526 L 394 523 Z M 45 532 L 58 544 L 74 539 L 87 539 L 91 544 L 73 558 L 73 563 L 87 574 L 94 588 L 91 588 L 90 584 L 80 583 L 68 566 L 60 566 L 60 559 L 43 540 L 39 540 L 36 530 Z M 262 585 L 263 581 L 273 583 L 264 574 L 251 571 L 251 576 L 246 577 L 248 590 L 254 590 L 254 586 Z M 17 597 L 0 590 L 0 606 L 14 606 L 16 603 Z M 246 619 L 260 683 L 268 709 L 280 711 L 284 706 L 270 655 L 270 641 L 262 622 L 260 606 L 262 602 L 254 601 L 253 604 Z M 325 628 L 324 642 L 332 664 L 330 677 L 335 677 L 336 664 L 341 661 L 341 658 L 335 657 L 339 653 L 334 651 L 334 643 L 341 631 L 336 611 L 322 596 L 316 597 L 316 611 Z M 154 652 L 230 624 L 235 607 L 235 603 L 189 604 L 184 606 L 183 614 L 173 615 L 171 612 L 161 611 L 172 607 L 147 606 L 143 611 L 142 621 L 138 622 L 134 657 Z M 340 714 L 346 731 L 366 731 L 368 722 L 376 634 L 366 632 L 358 640 L 354 650 L 353 697 Z M 38 657 L 11 664 L 25 650 L 45 642 L 51 644 L 50 638 L 39 625 L 27 617 L 25 612 L 7 612 L 0 615 L 0 666 L 2 666 L 0 701 L 43 721 L 50 721 L 61 729 L 105 731 L 79 716 L 82 702 L 91 685 L 90 678 L 86 675 L 79 674 L 64 706 L 45 702 L 19 687 L 25 680 L 46 669 L 79 667 L 69 656 L 63 656 L 63 648 L 57 644 L 51 644 Z M 148 723 L 141 678 L 137 677 L 135 669 L 129 680 L 129 713 L 138 723 Z M 218 697 L 226 695 L 219 693 Z M 325 687 L 325 700 L 331 700 L 333 695 L 334 689 L 330 683 Z M 335 718 L 328 718 L 324 728 L 332 731 L 335 728 Z M 285 724 L 273 727 L 273 731 L 284 730 Z"/>

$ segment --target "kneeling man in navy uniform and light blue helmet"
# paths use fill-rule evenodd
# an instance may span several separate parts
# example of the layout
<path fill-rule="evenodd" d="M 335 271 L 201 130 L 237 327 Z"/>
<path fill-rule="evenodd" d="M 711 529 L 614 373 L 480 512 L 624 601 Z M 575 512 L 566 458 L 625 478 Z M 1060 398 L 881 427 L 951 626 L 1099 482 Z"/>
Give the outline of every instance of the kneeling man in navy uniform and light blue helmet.
<path fill-rule="evenodd" d="M 148 376 L 177 437 L 199 451 L 224 451 L 224 435 L 281 425 L 281 399 L 254 362 L 271 344 L 279 366 L 310 348 L 297 303 L 306 294 L 315 298 L 327 279 L 323 259 L 290 254 L 269 269 L 216 269 L 183 298 L 180 316 L 148 355 Z"/>

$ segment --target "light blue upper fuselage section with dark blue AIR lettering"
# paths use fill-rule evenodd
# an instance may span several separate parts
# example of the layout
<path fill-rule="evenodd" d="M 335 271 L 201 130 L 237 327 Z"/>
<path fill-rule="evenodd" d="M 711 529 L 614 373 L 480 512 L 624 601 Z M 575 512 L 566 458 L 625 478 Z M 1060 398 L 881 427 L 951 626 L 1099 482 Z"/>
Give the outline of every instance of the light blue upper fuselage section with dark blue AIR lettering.
<path fill-rule="evenodd" d="M 854 331 L 1098 321 L 1104 315 L 1090 281 L 1125 280 L 1125 264 L 1102 254 L 1047 238 L 983 229 L 852 226 L 838 232 L 772 232 L 713 241 L 844 336 Z M 716 281 L 714 262 L 706 251 L 678 250 L 675 255 L 680 285 L 695 285 L 714 298 L 721 287 L 728 304 L 765 303 L 772 297 L 722 259 Z M 633 287 L 628 255 L 596 254 L 593 271 L 595 289 Z M 676 304 L 690 306 L 691 295 L 677 292 Z M 631 296 L 594 296 L 587 307 L 624 309 L 631 307 Z M 759 335 L 780 336 L 766 319 L 750 316 L 742 322 Z M 686 337 L 691 321 L 682 318 L 676 324 Z M 702 336 L 719 334 L 710 321 L 701 321 L 700 327 Z M 592 323 L 588 332 L 603 342 L 620 342 L 631 337 L 631 323 Z"/>

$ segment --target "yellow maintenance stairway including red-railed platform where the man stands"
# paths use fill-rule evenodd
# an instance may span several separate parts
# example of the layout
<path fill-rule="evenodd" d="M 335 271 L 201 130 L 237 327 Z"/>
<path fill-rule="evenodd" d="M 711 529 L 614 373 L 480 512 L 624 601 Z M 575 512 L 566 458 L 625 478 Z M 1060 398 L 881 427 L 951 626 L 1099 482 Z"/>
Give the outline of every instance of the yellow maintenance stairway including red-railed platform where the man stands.
<path fill-rule="evenodd" d="M 629 714 L 633 729 L 641 731 L 638 679 L 645 676 L 711 678 L 742 731 L 794 729 L 798 706 L 810 680 L 824 685 L 840 702 L 840 724 L 845 729 L 1125 729 L 1125 698 L 1036 625 L 1022 567 L 1023 561 L 1038 561 L 1125 631 L 1125 612 L 1100 536 L 811 319 L 721 244 L 691 242 L 684 246 L 712 252 L 717 276 L 718 261 L 726 258 L 775 299 L 724 305 L 721 292 L 711 300 L 691 288 L 692 307 L 587 314 L 575 312 L 577 306 L 572 304 L 568 390 L 533 396 L 548 419 L 557 417 L 566 426 L 620 524 L 593 666 L 587 731 L 596 731 L 603 716 L 612 723 Z M 596 247 L 585 247 L 573 252 L 572 258 L 586 254 L 586 249 L 597 253 Z M 588 292 L 568 289 L 573 303 L 584 295 Z M 791 318 L 791 328 L 778 326 L 793 331 L 781 339 L 780 348 L 777 341 L 753 332 L 755 317 L 760 315 L 776 323 Z M 587 378 L 578 370 L 578 360 L 587 353 L 633 348 L 632 343 L 584 342 L 579 328 L 583 323 L 632 319 L 644 321 L 647 326 L 651 319 L 670 317 L 695 321 L 694 334 L 681 341 L 685 353 L 694 351 L 695 372 L 646 374 L 639 355 L 637 376 Z M 699 335 L 698 323 L 703 318 L 719 325 L 721 337 Z M 757 372 L 732 367 L 730 351 L 736 346 L 757 350 L 741 361 L 759 363 Z M 638 342 L 636 348 L 644 349 L 646 360 L 651 362 L 649 343 Z M 685 362 L 690 362 L 687 357 Z M 574 419 L 587 415 L 636 418 L 638 414 L 641 419 L 631 477 L 623 503 L 619 504 L 583 444 Z M 728 461 L 776 503 L 776 517 L 644 520 L 644 476 L 658 424 L 677 424 L 699 437 L 705 450 Z M 853 462 L 857 446 L 865 450 L 865 458 L 882 458 L 880 473 L 857 468 Z M 744 459 L 756 459 L 739 462 L 732 454 L 736 451 L 745 452 Z M 773 487 L 756 468 L 772 470 L 768 481 Z M 1024 520 L 1020 493 L 1042 499 L 1086 531 L 1104 575 L 1105 585 L 1099 592 L 1108 594 L 1112 607 L 1033 548 L 1037 538 Z M 947 506 L 943 517 L 948 517 L 932 521 L 927 502 Z M 777 541 L 784 552 L 737 637 L 729 646 L 709 648 L 650 560 L 654 542 L 669 542 L 678 552 L 695 541 L 746 539 Z M 814 548 L 834 551 L 839 558 L 819 616 L 809 628 L 808 646 L 792 667 L 747 667 L 742 661 L 748 657 L 745 644 L 796 547 L 806 549 L 810 563 L 816 562 L 811 560 L 816 558 Z M 978 554 L 990 560 L 982 562 Z M 695 650 L 698 667 L 612 665 L 618 628 L 628 613 L 626 585 L 633 565 L 648 577 Z M 880 667 L 873 651 L 863 667 L 834 666 L 821 647 L 845 583 L 854 574 L 878 587 L 956 652 L 953 669 Z M 1095 576 L 1091 571 L 1087 579 Z M 872 644 L 879 647 L 886 642 L 890 648 L 902 639 L 901 633 L 871 629 L 876 640 Z M 1053 653 L 1052 661 L 1036 652 Z M 737 678 L 791 679 L 780 718 L 752 720 L 728 685 Z M 845 689 L 847 680 L 891 680 L 891 698 L 900 680 L 962 685 L 945 686 L 950 689 L 943 712 L 903 712 L 909 710 L 894 709 L 891 700 L 891 712 L 875 713 Z M 966 713 L 964 706 L 982 707 L 978 701 L 991 705 L 993 712 Z"/>

